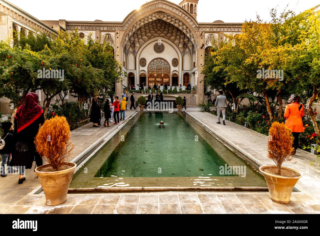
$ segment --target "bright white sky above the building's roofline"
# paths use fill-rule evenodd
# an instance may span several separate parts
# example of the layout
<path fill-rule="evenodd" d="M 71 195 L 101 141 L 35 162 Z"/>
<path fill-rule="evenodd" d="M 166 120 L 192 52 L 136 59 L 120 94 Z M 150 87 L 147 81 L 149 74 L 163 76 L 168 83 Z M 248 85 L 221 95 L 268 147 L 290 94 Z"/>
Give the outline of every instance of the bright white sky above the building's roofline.
<path fill-rule="evenodd" d="M 146 0 L 9 0 L 25 12 L 39 20 L 69 21 L 119 21 L 134 9 L 146 3 Z M 179 4 L 181 0 L 172 0 Z M 267 4 L 266 4 L 267 3 Z M 199 0 L 198 22 L 221 20 L 226 23 L 261 19 L 269 20 L 269 9 L 277 8 L 281 12 L 286 5 L 296 13 L 303 12 L 320 0 Z"/>

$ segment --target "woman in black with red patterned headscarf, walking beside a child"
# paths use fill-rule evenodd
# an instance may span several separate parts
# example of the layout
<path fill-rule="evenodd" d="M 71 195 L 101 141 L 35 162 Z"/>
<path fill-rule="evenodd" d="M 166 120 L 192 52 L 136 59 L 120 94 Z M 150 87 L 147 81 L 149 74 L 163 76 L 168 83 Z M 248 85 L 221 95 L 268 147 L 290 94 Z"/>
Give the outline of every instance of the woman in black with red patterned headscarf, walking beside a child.
<path fill-rule="evenodd" d="M 19 184 L 26 180 L 25 169 L 31 169 L 34 159 L 37 166 L 42 165 L 42 158 L 36 152 L 34 144 L 39 127 L 44 123 L 43 109 L 38 104 L 38 99 L 36 93 L 29 92 L 25 103 L 18 108 L 14 117 L 14 142 L 10 165 L 18 166 L 20 169 Z"/>

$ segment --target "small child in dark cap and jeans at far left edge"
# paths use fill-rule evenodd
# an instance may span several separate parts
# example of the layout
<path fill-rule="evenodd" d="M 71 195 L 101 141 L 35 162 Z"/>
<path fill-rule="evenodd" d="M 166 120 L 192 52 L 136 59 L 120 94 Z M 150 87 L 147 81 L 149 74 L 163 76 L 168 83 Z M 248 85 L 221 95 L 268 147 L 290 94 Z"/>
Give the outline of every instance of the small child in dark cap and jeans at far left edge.
<path fill-rule="evenodd" d="M 3 135 L 3 138 L 1 139 L 1 144 L 0 144 L 0 153 L 2 156 L 1 177 L 6 177 L 7 169 L 10 165 L 10 153 L 11 153 L 11 147 L 12 147 L 12 141 L 13 141 L 13 126 L 11 122 L 2 122 L 1 128 L 4 131 L 4 135 Z"/>

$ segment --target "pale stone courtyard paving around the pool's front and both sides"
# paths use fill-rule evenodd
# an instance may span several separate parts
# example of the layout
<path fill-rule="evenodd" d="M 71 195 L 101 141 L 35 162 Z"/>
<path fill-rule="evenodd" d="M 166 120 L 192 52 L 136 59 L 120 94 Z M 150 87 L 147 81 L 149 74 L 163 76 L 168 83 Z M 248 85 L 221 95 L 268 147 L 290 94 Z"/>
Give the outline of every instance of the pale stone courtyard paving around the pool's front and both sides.
<path fill-rule="evenodd" d="M 216 124 L 216 116 L 188 107 L 187 114 L 203 126 L 236 147 L 239 152 L 258 165 L 272 164 L 266 158 L 268 137 L 226 121 Z M 127 111 L 129 117 L 133 111 Z M 120 128 L 120 127 L 119 127 Z M 76 159 L 99 143 L 111 132 L 110 128 L 92 128 L 87 124 L 73 130 L 75 150 L 70 160 Z M 116 131 L 115 131 L 116 132 Z M 139 193 L 68 194 L 68 200 L 58 206 L 47 206 L 44 194 L 32 194 L 39 187 L 33 169 L 27 170 L 27 180 L 18 185 L 18 176 L 0 179 L 0 213 L 4 214 L 319 214 L 319 165 L 309 165 L 314 155 L 298 150 L 284 166 L 303 172 L 289 204 L 272 202 L 268 192 L 171 191 Z"/>

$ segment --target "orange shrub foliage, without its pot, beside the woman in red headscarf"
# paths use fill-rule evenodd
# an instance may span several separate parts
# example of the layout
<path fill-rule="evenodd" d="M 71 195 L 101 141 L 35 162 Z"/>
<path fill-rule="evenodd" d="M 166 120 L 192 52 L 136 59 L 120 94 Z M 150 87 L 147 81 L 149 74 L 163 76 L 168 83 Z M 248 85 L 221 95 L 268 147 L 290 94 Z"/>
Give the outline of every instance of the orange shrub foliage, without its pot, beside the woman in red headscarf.
<path fill-rule="evenodd" d="M 36 135 L 36 150 L 43 156 L 52 171 L 57 171 L 72 153 L 73 145 L 69 141 L 70 127 L 65 117 L 55 116 L 47 119 Z"/>

